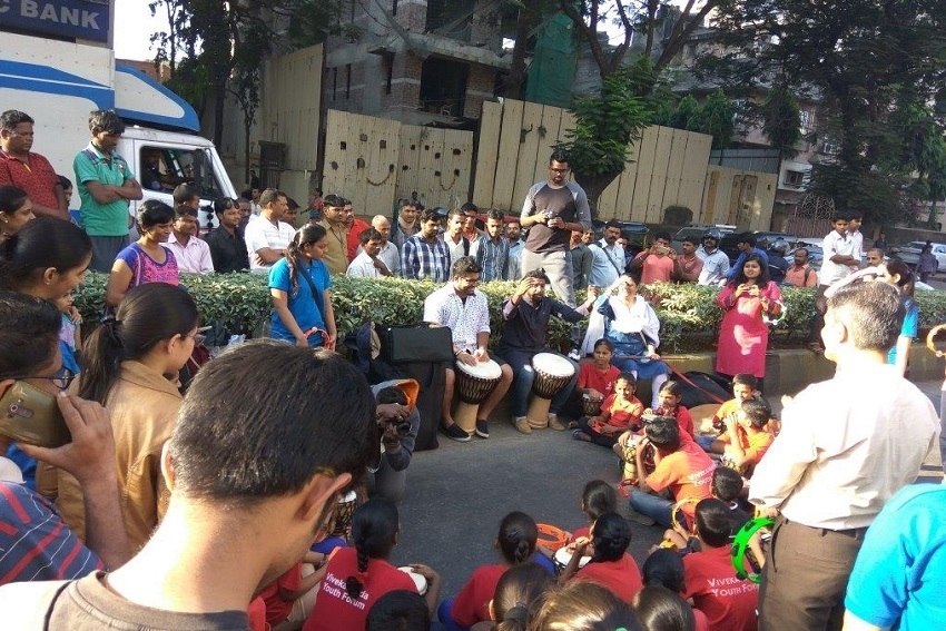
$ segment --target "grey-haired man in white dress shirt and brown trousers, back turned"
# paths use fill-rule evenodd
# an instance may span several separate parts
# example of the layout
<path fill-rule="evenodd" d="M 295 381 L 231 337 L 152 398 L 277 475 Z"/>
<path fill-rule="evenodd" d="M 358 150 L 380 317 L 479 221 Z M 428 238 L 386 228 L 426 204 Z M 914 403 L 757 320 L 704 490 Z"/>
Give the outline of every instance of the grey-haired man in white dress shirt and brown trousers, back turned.
<path fill-rule="evenodd" d="M 886 363 L 903 319 L 899 292 L 885 283 L 851 284 L 828 298 L 821 338 L 835 377 L 785 407 L 749 486 L 761 514 L 780 513 L 759 591 L 760 631 L 841 629 L 867 528 L 937 444 L 933 404 Z"/>

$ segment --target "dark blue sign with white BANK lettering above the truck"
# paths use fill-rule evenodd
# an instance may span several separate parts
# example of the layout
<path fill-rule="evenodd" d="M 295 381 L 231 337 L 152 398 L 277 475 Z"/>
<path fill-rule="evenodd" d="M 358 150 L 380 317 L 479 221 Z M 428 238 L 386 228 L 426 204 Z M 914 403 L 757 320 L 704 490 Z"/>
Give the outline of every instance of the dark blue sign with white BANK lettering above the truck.
<path fill-rule="evenodd" d="M 109 0 L 0 0 L 0 27 L 108 41 Z"/>

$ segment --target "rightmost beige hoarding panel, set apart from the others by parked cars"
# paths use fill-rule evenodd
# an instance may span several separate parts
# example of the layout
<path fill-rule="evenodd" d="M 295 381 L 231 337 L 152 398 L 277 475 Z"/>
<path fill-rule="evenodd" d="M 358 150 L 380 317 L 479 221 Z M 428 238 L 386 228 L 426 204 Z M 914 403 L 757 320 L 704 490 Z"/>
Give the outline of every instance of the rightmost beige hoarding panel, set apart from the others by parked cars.
<path fill-rule="evenodd" d="M 778 174 L 710 165 L 706 169 L 702 211 L 693 217 L 693 223 L 733 224 L 746 230 L 768 230 L 777 186 Z"/>

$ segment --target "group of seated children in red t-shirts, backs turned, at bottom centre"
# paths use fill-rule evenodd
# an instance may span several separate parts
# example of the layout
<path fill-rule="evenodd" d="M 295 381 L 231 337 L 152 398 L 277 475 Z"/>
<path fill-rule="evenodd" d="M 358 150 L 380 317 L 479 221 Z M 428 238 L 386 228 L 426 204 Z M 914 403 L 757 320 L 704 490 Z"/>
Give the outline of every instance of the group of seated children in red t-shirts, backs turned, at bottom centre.
<path fill-rule="evenodd" d="M 475 569 L 460 593 L 443 601 L 438 618 L 450 631 L 546 629 L 538 619 L 541 605 L 562 590 L 592 583 L 632 605 L 640 627 L 629 630 L 668 629 L 666 615 L 671 614 L 679 618 L 674 629 L 755 631 L 757 585 L 737 578 L 730 561 L 731 538 L 749 519 L 737 507 L 740 489 L 739 475 L 720 467 L 713 475 L 715 496 L 696 504 L 692 528 L 683 536 L 672 533 L 680 545 L 654 549 L 643 572 L 628 553 L 631 529 L 617 514 L 618 495 L 604 481 L 584 487 L 581 506 L 591 523 L 572 533 L 565 545 L 569 561 L 559 566 L 558 578 L 546 556 L 554 551 L 536 544 L 536 523 L 510 513 L 495 541 L 502 562 Z"/>

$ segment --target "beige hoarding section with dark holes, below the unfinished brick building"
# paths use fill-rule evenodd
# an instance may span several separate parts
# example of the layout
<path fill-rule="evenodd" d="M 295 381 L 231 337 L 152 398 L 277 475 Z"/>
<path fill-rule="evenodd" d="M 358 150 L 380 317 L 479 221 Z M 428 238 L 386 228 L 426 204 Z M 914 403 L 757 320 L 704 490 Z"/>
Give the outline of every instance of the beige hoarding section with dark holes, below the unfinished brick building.
<path fill-rule="evenodd" d="M 328 110 L 322 189 L 358 215 L 390 215 L 395 199 L 453 207 L 470 198 L 473 132 Z"/>

